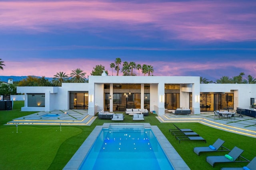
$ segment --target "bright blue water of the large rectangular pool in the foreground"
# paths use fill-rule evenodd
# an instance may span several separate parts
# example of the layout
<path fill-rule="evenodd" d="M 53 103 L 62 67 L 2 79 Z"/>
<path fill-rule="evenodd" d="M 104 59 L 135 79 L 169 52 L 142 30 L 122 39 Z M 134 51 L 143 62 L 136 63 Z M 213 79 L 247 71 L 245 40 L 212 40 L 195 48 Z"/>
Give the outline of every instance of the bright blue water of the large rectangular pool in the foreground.
<path fill-rule="evenodd" d="M 151 129 L 143 126 L 103 128 L 80 170 L 173 170 Z"/>

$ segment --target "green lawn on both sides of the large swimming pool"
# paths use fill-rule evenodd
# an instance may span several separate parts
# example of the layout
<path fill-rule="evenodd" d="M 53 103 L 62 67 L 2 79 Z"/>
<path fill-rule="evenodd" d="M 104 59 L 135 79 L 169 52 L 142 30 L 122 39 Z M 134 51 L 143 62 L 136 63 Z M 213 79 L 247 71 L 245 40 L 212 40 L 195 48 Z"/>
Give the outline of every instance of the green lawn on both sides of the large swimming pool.
<path fill-rule="evenodd" d="M 86 137 L 97 125 L 110 123 L 111 120 L 96 119 L 91 126 L 16 126 L 4 125 L 12 119 L 29 115 L 35 112 L 21 112 L 20 107 L 24 102 L 15 101 L 12 111 L 0 111 L 0 169 L 52 169 L 64 168 L 76 150 L 84 142 Z M 124 123 L 132 123 L 132 117 L 125 115 Z M 150 114 L 145 117 L 145 123 L 156 125 L 168 138 L 172 146 L 192 170 L 196 169 L 220 169 L 222 167 L 243 167 L 243 163 L 221 163 L 214 168 L 206 162 L 208 155 L 224 155 L 228 152 L 202 153 L 197 156 L 193 152 L 196 146 L 209 146 L 217 138 L 225 140 L 224 146 L 232 149 L 237 146 L 244 150 L 242 156 L 252 160 L 256 156 L 256 138 L 234 134 L 215 128 L 201 125 L 200 123 L 175 123 L 180 128 L 191 128 L 207 140 L 202 141 L 181 141 L 179 142 L 169 132 L 174 128 L 172 123 L 160 123 L 156 115 Z"/>

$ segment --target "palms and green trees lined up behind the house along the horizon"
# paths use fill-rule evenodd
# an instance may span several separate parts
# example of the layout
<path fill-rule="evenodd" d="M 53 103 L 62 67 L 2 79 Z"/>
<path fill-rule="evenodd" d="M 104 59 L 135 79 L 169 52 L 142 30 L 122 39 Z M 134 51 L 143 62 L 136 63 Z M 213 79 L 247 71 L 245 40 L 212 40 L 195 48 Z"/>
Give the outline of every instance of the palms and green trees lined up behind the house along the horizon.
<path fill-rule="evenodd" d="M 122 67 L 121 67 L 122 65 Z M 4 61 L 0 59 L 0 69 L 3 68 Z M 113 75 L 113 69 L 116 71 L 116 75 L 118 76 L 119 73 L 122 73 L 123 76 L 136 76 L 135 70 L 138 70 L 138 75 L 140 75 L 140 72 L 142 74 L 150 76 L 150 74 L 154 73 L 154 68 L 152 65 L 146 65 L 146 64 L 136 64 L 135 62 L 127 62 L 124 61 L 122 63 L 120 58 L 116 58 L 113 63 L 110 63 L 110 68 L 112 69 L 112 75 Z M 91 75 L 101 75 L 103 71 L 105 70 L 105 66 L 103 65 L 96 65 L 93 67 Z M 108 75 L 108 70 L 105 70 L 106 74 Z M 248 83 L 248 84 L 255 84 L 256 78 L 252 77 L 251 75 L 248 75 L 246 78 L 243 77 L 244 73 L 240 73 L 238 76 L 234 77 L 228 77 L 228 76 L 222 76 L 220 79 L 217 79 L 216 82 L 210 81 L 207 78 L 200 77 L 200 83 Z M 45 76 L 42 76 L 40 78 L 34 77 L 34 76 L 28 76 L 26 79 L 23 79 L 19 82 L 13 82 L 13 85 L 1 83 L 0 84 L 0 95 L 15 95 L 16 94 L 16 87 L 17 86 L 61 86 L 62 83 L 88 83 L 88 76 L 86 77 L 86 73 L 80 69 L 74 69 L 72 72 L 68 75 L 63 71 L 57 72 L 54 76 L 52 81 L 49 81 L 45 78 Z"/>

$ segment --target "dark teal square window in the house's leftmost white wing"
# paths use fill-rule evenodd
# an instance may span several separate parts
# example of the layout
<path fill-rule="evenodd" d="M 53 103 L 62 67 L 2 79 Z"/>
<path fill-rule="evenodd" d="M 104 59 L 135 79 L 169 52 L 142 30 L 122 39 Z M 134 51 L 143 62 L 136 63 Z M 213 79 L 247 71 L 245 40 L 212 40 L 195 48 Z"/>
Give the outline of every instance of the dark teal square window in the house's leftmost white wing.
<path fill-rule="evenodd" d="M 45 107 L 45 94 L 28 94 L 28 107 Z"/>

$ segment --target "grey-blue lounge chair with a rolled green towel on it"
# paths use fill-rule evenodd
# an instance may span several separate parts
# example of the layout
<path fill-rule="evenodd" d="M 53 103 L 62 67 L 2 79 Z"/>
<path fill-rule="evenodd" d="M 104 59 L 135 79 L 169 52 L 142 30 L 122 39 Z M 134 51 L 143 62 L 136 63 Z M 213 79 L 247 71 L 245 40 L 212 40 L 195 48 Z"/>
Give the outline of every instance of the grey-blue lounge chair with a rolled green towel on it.
<path fill-rule="evenodd" d="M 249 160 L 247 160 L 246 158 L 240 156 L 242 153 L 244 152 L 244 150 L 238 148 L 238 147 L 234 147 L 228 154 L 226 154 L 225 156 L 207 156 L 206 157 L 206 162 L 208 162 L 210 165 L 212 165 L 214 167 L 215 163 L 220 163 L 220 162 L 250 162 Z M 244 160 L 238 160 L 236 161 L 236 159 L 239 158 L 243 158 Z"/>

